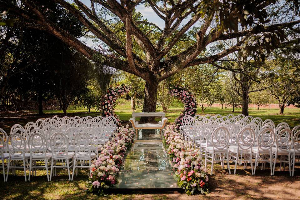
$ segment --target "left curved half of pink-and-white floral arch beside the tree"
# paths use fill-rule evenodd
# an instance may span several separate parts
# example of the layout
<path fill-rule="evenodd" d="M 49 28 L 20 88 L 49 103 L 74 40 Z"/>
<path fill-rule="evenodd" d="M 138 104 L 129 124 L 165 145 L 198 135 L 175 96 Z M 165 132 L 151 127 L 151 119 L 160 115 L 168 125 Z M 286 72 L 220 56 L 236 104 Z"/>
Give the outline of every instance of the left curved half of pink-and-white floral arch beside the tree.
<path fill-rule="evenodd" d="M 102 116 L 108 117 L 113 115 L 117 119 L 117 125 L 118 127 L 121 126 L 121 120 L 118 115 L 115 114 L 114 106 L 116 105 L 116 101 L 119 96 L 128 93 L 130 90 L 127 86 L 117 86 L 110 88 L 107 93 L 102 98 L 101 103 L 101 110 L 102 110 Z"/>

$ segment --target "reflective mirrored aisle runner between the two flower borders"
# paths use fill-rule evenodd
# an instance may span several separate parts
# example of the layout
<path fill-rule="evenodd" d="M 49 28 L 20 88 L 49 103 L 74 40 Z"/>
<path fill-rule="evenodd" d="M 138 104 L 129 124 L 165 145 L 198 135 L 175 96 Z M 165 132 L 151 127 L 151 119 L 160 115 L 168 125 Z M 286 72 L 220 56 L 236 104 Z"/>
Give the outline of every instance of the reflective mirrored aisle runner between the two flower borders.
<path fill-rule="evenodd" d="M 159 131 L 140 130 L 124 160 L 116 188 L 177 189 L 170 159 L 162 145 Z"/>

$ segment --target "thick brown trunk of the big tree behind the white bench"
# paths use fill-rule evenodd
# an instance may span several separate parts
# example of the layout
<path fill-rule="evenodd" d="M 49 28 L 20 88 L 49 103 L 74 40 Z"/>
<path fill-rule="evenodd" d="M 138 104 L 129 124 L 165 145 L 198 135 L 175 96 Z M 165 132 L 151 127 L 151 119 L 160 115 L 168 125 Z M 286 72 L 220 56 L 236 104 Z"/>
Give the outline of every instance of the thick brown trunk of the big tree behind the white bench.
<path fill-rule="evenodd" d="M 156 100 L 157 100 L 157 89 L 158 89 L 158 82 L 153 81 L 151 83 L 146 82 L 145 84 L 145 98 L 144 98 L 144 106 L 143 112 L 155 112 L 156 110 Z M 149 123 L 153 122 L 154 117 L 141 117 L 141 123 Z"/>

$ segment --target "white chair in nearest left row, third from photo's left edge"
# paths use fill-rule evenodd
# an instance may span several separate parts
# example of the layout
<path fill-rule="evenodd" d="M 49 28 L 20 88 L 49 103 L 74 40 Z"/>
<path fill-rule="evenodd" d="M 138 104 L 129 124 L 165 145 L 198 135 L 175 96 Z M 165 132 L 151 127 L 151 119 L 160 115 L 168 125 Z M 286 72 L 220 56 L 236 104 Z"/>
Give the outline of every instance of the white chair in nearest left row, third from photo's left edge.
<path fill-rule="evenodd" d="M 32 133 L 28 139 L 28 148 L 30 151 L 30 160 L 29 160 L 29 177 L 28 181 L 30 181 L 30 175 L 32 172 L 35 172 L 38 168 L 45 168 L 47 173 L 47 179 L 49 181 L 49 173 L 48 173 L 48 161 L 51 158 L 52 154 L 47 153 L 48 151 L 48 141 L 46 137 L 41 133 Z M 44 166 L 37 166 L 37 161 L 44 161 Z M 32 163 L 33 162 L 33 163 Z"/>

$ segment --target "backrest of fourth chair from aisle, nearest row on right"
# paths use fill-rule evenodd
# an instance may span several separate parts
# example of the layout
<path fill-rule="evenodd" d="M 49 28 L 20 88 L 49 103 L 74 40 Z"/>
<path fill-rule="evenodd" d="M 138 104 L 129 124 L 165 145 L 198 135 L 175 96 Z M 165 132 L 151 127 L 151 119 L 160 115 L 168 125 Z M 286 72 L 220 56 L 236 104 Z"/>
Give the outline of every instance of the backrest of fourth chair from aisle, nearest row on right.
<path fill-rule="evenodd" d="M 292 145 L 292 131 L 288 128 L 282 129 L 276 135 L 276 147 L 283 151 L 289 151 Z"/>

